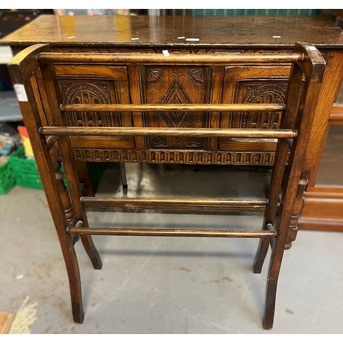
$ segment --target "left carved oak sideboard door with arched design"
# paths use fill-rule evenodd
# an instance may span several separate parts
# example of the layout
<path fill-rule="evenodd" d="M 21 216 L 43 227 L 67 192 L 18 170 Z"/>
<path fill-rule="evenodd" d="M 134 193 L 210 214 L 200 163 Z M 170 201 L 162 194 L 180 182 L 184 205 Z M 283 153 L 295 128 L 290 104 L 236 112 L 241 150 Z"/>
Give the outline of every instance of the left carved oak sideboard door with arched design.
<path fill-rule="evenodd" d="M 56 66 L 56 73 L 65 104 L 130 104 L 126 67 L 60 64 Z M 66 115 L 69 126 L 132 126 L 131 113 L 69 112 Z M 132 137 L 71 137 L 71 144 L 73 147 L 134 149 Z"/>

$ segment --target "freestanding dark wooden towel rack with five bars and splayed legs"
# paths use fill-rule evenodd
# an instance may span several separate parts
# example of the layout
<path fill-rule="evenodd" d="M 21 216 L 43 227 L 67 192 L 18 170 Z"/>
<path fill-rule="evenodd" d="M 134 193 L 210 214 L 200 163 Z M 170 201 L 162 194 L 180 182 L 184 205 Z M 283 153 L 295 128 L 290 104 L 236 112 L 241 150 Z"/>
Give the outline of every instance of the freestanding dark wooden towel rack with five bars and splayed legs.
<path fill-rule="evenodd" d="M 290 69 L 287 94 L 284 104 L 191 104 L 191 99 L 179 104 L 180 99 L 161 99 L 161 104 L 143 104 L 138 97 L 117 104 L 85 104 L 82 97 L 73 99 L 71 103 L 62 102 L 60 85 L 56 74 L 56 65 L 73 64 L 76 67 L 114 65 L 123 67 L 125 73 L 130 74 L 140 67 L 157 66 L 174 68 L 174 86 L 180 84 L 178 68 L 189 66 L 219 66 L 224 68 L 232 64 L 292 64 Z M 181 66 L 181 67 L 180 67 Z M 88 68 L 87 67 L 87 68 Z M 303 194 L 309 180 L 309 170 L 305 165 L 305 154 L 309 142 L 311 125 L 316 113 L 318 95 L 322 86 L 322 76 L 325 61 L 318 49 L 309 43 L 296 43 L 294 51 L 290 53 L 268 54 L 91 54 L 91 53 L 56 53 L 49 45 L 33 45 L 14 56 L 9 64 L 10 74 L 23 113 L 23 119 L 32 142 L 34 156 L 40 177 L 47 196 L 64 260 L 71 290 L 71 304 L 73 319 L 82 323 L 84 310 L 82 306 L 82 292 L 78 260 L 74 244 L 80 235 L 80 240 L 91 258 L 95 269 L 102 268 L 91 235 L 131 235 L 131 236 L 169 236 L 169 237 L 241 237 L 259 238 L 253 270 L 261 273 L 261 268 L 272 246 L 272 257 L 268 272 L 267 295 L 263 327 L 272 329 L 274 323 L 274 309 L 276 301 L 276 287 L 283 253 L 292 246 L 298 230 L 298 218 L 303 206 Z M 91 69 L 89 69 L 91 70 Z M 174 70 L 174 69 L 172 69 Z M 91 75 L 91 71 L 89 71 Z M 136 75 L 136 74 L 134 74 Z M 96 77 L 96 75 L 95 75 Z M 193 78 L 193 76 L 191 75 Z M 131 79 L 130 79 L 131 78 Z M 134 81 L 134 77 L 128 80 Z M 197 84 L 199 80 L 191 79 Z M 137 81 L 137 80 L 136 80 Z M 154 82 L 154 80 L 152 80 Z M 176 86 L 175 86 L 176 87 Z M 174 88 L 173 88 L 174 89 Z M 181 88 L 180 88 L 181 89 Z M 142 92 L 146 90 L 142 88 Z M 180 91 L 182 92 L 182 91 Z M 182 93 L 183 94 L 183 93 Z M 186 99 L 186 97 L 183 97 Z M 208 98 L 210 99 L 210 97 Z M 130 103 L 132 102 L 132 103 Z M 208 101 L 210 102 L 210 101 Z M 220 102 L 211 98 L 211 102 Z M 113 113 L 125 113 L 125 118 L 135 118 L 131 125 L 106 119 L 102 123 L 106 126 L 78 126 L 70 125 L 68 116 L 87 116 L 89 113 L 103 115 L 110 118 Z M 224 113 L 254 113 L 254 115 L 281 116 L 280 128 L 234 128 L 234 126 L 219 126 L 220 115 Z M 161 127 L 147 125 L 147 118 L 151 115 L 174 115 L 176 119 L 182 116 L 199 116 L 204 113 L 204 121 L 196 122 L 197 127 L 185 127 L 183 122 L 167 123 Z M 151 148 L 149 139 L 160 139 L 162 146 L 169 137 L 180 139 L 208 139 L 204 150 L 218 152 L 215 139 L 223 137 L 248 139 L 277 139 L 275 158 L 268 188 L 268 196 L 263 199 L 200 199 L 200 198 L 102 198 L 82 194 L 78 165 L 75 160 L 80 158 L 80 150 L 75 150 L 73 137 L 87 139 L 92 145 L 95 161 L 110 161 L 108 154 L 119 152 L 111 144 L 116 137 L 133 137 L 132 145 L 123 150 L 132 150 L 134 154 L 158 152 Z M 200 138 L 198 138 L 200 137 Z M 186 139 L 186 141 L 187 141 Z M 97 150 L 99 141 L 106 142 L 103 154 Z M 195 141 L 195 145 L 198 141 Z M 167 152 L 188 154 L 202 154 L 201 150 L 175 147 L 164 150 L 167 163 L 174 163 Z M 196 145 L 198 147 L 198 145 Z M 80 148 L 82 149 L 82 148 Z M 192 150 L 193 149 L 193 150 Z M 229 152 L 225 151 L 224 152 Z M 87 156 L 90 156 L 89 150 Z M 85 153 L 86 156 L 86 153 Z M 135 162 L 129 154 L 127 163 Z M 168 160 L 169 158 L 169 160 Z M 174 157 L 173 157 L 174 158 Z M 84 161 L 84 160 L 82 160 Z M 64 167 L 67 178 L 68 191 L 62 181 L 60 163 Z M 155 161 L 156 162 L 156 161 Z M 158 161 L 157 161 L 158 162 Z M 215 163 L 215 160 L 209 161 Z M 261 230 L 213 230 L 209 229 L 155 229 L 155 228 L 90 228 L 87 221 L 86 209 L 113 211 L 174 211 L 178 213 L 233 213 L 233 212 L 261 212 L 264 211 Z"/>

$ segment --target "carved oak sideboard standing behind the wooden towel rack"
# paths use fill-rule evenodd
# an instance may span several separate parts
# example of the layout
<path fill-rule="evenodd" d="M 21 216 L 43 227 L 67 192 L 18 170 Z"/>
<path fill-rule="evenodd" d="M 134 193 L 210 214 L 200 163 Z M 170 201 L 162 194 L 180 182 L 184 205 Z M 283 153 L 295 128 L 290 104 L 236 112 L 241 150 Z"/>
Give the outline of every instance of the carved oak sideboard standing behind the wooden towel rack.
<path fill-rule="evenodd" d="M 189 40 L 190 38 L 190 40 Z M 300 228 L 343 230 L 341 189 L 321 192 L 316 176 L 329 131 L 329 115 L 343 78 L 342 29 L 324 16 L 40 16 L 0 40 L 14 51 L 49 43 L 56 52 L 148 54 L 264 54 L 292 51 L 294 43 L 316 45 L 327 62 L 316 119 L 311 130 L 307 169 L 311 170 Z M 64 102 L 89 104 L 220 104 L 284 102 L 289 65 L 154 67 L 59 64 Z M 279 128 L 280 113 L 69 113 L 70 126 L 156 126 Z M 199 137 L 113 137 L 97 141 L 73 137 L 80 173 L 85 161 L 272 165 L 276 143 L 266 139 Z M 119 149 L 114 152 L 113 149 Z M 180 149 L 180 153 L 177 150 Z M 142 151 L 143 150 L 143 151 Z M 174 150 L 174 152 L 170 152 Z M 175 152 L 176 150 L 176 152 Z M 187 152 L 182 151 L 187 150 Z M 172 154 L 172 155 L 171 155 Z M 86 176 L 84 176 L 86 178 Z M 331 193 L 340 196 L 331 197 Z M 332 198 L 332 199 L 331 199 Z M 337 207 L 333 218 L 316 217 L 311 204 L 326 199 Z M 312 201 L 312 202 L 311 202 Z M 321 201 L 321 200 L 320 200 Z M 316 201 L 315 201 L 316 202 Z M 316 202 L 318 204 L 318 202 Z M 342 212 L 342 214 L 340 214 Z"/>

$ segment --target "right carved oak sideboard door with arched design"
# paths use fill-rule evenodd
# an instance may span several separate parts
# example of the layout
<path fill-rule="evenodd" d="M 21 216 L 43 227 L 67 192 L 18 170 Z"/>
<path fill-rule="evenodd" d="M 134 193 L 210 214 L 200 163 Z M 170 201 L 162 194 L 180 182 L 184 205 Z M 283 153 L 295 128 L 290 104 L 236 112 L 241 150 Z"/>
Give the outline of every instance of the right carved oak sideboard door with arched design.
<path fill-rule="evenodd" d="M 226 67 L 223 103 L 283 104 L 289 67 Z M 222 113 L 222 128 L 279 128 L 281 112 Z M 220 139 L 220 150 L 274 151 L 274 139 Z"/>

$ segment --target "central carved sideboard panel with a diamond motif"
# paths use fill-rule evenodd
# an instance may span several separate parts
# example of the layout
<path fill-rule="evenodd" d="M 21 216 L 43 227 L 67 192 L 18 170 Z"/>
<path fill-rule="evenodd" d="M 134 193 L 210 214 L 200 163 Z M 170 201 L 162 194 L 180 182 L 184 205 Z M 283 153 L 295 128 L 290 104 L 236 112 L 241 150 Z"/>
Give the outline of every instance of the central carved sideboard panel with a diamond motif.
<path fill-rule="evenodd" d="M 202 104 L 211 102 L 212 67 L 142 66 L 141 101 L 145 104 Z M 143 126 L 157 128 L 206 128 L 209 113 L 156 112 L 143 114 Z M 209 139 L 148 137 L 147 149 L 206 150 Z"/>

